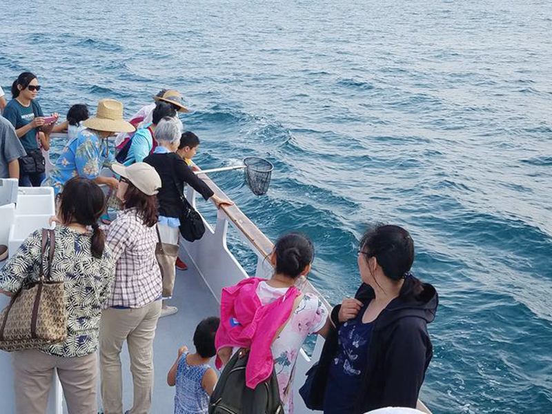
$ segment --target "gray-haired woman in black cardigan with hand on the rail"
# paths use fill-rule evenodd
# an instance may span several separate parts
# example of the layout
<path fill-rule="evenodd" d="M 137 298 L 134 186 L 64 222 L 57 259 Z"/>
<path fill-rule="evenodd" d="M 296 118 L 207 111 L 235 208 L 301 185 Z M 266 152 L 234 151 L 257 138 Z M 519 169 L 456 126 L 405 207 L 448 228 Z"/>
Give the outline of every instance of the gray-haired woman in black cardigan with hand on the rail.
<path fill-rule="evenodd" d="M 165 117 L 157 124 L 155 140 L 157 147 L 152 154 L 144 159 L 161 177 L 161 189 L 157 194 L 159 201 L 159 233 L 164 243 L 178 244 L 180 219 L 184 213 L 181 196 L 184 184 L 192 186 L 204 199 L 215 201 L 217 208 L 221 205 L 233 204 L 232 201 L 220 199 L 205 182 L 197 177 L 188 167 L 176 150 L 180 144 L 181 131 L 175 118 Z M 161 316 L 172 315 L 178 309 L 175 306 L 165 306 Z"/>

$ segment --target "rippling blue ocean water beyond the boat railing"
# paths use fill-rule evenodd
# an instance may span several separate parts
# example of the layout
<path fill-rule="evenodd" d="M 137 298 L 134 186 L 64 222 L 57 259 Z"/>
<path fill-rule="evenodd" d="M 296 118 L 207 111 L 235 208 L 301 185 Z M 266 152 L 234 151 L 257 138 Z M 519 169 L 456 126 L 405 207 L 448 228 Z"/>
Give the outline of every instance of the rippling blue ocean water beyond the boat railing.
<path fill-rule="evenodd" d="M 213 179 L 271 239 L 311 235 L 331 302 L 366 224 L 410 230 L 440 293 L 434 413 L 552 412 L 552 3 L 3 0 L 0 21 L 6 92 L 30 70 L 48 112 L 113 97 L 130 117 L 177 88 L 198 164 L 273 161 L 263 197 Z"/>

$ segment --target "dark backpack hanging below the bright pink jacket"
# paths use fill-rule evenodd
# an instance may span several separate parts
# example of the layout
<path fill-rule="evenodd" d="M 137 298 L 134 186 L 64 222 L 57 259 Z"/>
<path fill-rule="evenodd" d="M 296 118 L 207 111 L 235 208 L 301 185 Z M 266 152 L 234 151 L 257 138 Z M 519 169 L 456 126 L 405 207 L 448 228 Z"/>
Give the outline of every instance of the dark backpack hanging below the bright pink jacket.
<path fill-rule="evenodd" d="M 268 380 L 254 390 L 246 386 L 246 366 L 249 351 L 242 348 L 234 354 L 222 371 L 209 402 L 209 414 L 279 414 L 278 380 L 273 369 Z"/>

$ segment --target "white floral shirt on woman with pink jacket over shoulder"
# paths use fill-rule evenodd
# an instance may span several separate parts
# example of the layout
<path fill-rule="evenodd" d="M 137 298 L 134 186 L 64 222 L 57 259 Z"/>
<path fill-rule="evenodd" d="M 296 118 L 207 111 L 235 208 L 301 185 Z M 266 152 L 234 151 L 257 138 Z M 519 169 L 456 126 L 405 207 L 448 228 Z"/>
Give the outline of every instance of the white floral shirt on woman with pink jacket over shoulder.
<path fill-rule="evenodd" d="M 257 287 L 257 296 L 265 305 L 284 295 L 287 290 L 288 288 L 273 288 L 266 282 L 261 282 Z M 293 317 L 272 344 L 274 369 L 285 414 L 293 413 L 293 375 L 299 350 L 308 335 L 317 333 L 324 327 L 327 318 L 328 309 L 319 297 L 306 293 Z"/>

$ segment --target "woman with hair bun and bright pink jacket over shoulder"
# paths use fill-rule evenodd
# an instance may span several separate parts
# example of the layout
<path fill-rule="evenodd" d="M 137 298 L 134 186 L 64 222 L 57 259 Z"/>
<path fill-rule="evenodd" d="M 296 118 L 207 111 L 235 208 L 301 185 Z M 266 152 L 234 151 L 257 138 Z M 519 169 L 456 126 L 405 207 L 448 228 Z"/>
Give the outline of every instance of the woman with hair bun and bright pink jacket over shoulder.
<path fill-rule="evenodd" d="M 269 258 L 274 266 L 273 276 L 268 280 L 245 279 L 237 286 L 224 288 L 221 297 L 221 324 L 215 338 L 217 366 L 228 362 L 236 349 L 233 347 L 250 348 L 247 385 L 254 388 L 274 369 L 286 414 L 293 413 L 293 371 L 299 350 L 308 335 L 326 336 L 329 331 L 328 310 L 319 297 L 313 293 L 303 295 L 295 288 L 297 280 L 311 271 L 314 253 L 313 243 L 306 235 L 282 235 Z M 248 311 L 254 314 L 248 315 Z M 250 344 L 240 339 L 239 333 L 248 329 L 244 321 L 256 325 Z M 275 337 L 271 345 L 268 342 L 268 348 L 264 348 L 264 337 Z M 266 355 L 270 355 L 271 364 L 259 364 L 266 361 Z"/>

